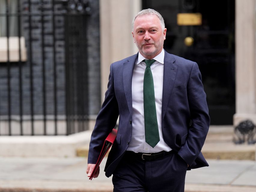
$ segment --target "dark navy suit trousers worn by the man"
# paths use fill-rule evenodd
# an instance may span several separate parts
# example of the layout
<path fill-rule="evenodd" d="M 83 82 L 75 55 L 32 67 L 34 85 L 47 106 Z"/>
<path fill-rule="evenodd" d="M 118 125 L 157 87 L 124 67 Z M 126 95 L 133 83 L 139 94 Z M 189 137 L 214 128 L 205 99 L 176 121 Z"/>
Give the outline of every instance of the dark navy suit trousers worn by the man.
<path fill-rule="evenodd" d="M 113 192 L 184 192 L 186 172 L 176 152 L 154 161 L 125 153 L 113 173 Z"/>

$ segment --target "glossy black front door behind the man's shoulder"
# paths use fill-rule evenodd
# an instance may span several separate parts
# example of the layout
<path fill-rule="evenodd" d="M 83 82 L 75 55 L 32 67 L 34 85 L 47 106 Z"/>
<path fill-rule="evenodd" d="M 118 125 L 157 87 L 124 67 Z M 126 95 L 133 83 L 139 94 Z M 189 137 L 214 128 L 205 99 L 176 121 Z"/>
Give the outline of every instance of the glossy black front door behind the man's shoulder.
<path fill-rule="evenodd" d="M 235 113 L 235 1 L 143 0 L 142 7 L 157 10 L 163 16 L 167 28 L 164 49 L 197 62 L 211 125 L 232 125 Z M 178 25 L 178 13 L 201 13 L 202 23 Z M 194 42 L 185 44 L 186 37 L 192 37 Z"/>

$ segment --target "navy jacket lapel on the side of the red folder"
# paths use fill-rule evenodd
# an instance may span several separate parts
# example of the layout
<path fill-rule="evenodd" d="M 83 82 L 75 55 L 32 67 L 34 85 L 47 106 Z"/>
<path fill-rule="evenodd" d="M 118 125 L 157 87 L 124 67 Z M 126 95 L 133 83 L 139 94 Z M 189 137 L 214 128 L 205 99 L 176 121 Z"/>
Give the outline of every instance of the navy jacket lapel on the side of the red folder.
<path fill-rule="evenodd" d="M 123 88 L 127 101 L 127 105 L 132 115 L 133 112 L 133 101 L 132 101 L 132 78 L 133 78 L 133 68 L 138 58 L 138 53 L 131 56 L 127 62 L 123 63 Z"/>

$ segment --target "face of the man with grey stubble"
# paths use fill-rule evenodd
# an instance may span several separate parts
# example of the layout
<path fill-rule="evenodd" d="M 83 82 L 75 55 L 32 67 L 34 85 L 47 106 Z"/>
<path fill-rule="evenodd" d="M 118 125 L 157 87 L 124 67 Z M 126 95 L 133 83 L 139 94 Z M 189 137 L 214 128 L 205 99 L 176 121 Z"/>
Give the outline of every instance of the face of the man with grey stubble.
<path fill-rule="evenodd" d="M 166 28 L 162 29 L 156 15 L 142 15 L 135 19 L 132 34 L 140 54 L 147 59 L 152 59 L 163 49 Z"/>

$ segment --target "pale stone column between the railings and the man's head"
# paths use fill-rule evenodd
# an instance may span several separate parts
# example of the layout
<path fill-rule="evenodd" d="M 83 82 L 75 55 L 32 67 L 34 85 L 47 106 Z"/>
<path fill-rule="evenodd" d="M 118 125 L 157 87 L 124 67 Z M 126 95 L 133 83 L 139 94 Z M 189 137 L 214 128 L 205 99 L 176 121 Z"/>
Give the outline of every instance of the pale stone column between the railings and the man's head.
<path fill-rule="evenodd" d="M 107 90 L 110 64 L 138 52 L 132 38 L 132 20 L 141 0 L 100 0 L 100 56 L 102 102 Z"/>

